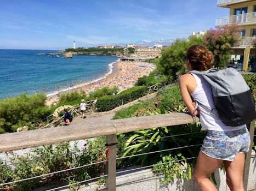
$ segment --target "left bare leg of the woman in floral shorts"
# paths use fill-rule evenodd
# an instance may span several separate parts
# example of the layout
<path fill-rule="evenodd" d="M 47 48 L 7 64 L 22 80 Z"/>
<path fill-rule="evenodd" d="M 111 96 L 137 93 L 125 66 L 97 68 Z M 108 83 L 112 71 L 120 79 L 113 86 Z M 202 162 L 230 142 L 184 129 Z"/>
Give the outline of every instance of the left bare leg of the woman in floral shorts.
<path fill-rule="evenodd" d="M 211 174 L 218 169 L 222 163 L 223 160 L 211 158 L 202 151 L 199 152 L 193 177 L 202 191 L 217 191 L 217 188 L 209 180 L 209 176 L 211 176 Z"/>

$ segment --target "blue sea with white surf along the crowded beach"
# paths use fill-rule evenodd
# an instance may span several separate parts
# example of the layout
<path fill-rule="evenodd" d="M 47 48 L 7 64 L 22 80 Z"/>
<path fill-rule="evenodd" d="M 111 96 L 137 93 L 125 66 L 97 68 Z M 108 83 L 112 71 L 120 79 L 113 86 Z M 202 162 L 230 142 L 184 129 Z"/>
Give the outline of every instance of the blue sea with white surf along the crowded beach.
<path fill-rule="evenodd" d="M 5 50 L 0 49 L 0 100 L 45 93 L 55 96 L 59 91 L 87 85 L 105 78 L 120 60 L 113 56 L 37 55 L 58 50 Z"/>

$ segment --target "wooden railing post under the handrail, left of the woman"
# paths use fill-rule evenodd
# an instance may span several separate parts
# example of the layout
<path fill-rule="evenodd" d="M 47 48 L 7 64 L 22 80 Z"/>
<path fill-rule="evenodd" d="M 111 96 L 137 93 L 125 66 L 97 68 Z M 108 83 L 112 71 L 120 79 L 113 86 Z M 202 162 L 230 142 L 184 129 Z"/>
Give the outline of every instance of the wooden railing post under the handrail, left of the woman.
<path fill-rule="evenodd" d="M 106 136 L 107 145 L 110 145 L 109 160 L 107 161 L 106 166 L 106 190 L 115 191 L 116 190 L 116 135 L 107 135 Z"/>

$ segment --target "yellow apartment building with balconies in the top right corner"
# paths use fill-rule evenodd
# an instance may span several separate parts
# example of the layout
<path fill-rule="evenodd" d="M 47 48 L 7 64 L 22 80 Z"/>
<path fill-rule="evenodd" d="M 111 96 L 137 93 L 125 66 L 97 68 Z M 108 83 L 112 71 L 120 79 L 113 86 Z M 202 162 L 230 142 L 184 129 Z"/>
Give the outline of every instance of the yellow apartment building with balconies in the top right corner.
<path fill-rule="evenodd" d="M 251 46 L 249 65 L 256 70 L 256 1 L 255 0 L 217 0 L 217 6 L 230 9 L 229 16 L 220 17 L 216 20 L 215 27 L 237 25 L 241 41 L 232 47 L 234 55 L 232 59 L 243 61 L 244 49 Z"/>

